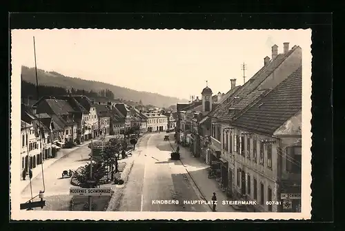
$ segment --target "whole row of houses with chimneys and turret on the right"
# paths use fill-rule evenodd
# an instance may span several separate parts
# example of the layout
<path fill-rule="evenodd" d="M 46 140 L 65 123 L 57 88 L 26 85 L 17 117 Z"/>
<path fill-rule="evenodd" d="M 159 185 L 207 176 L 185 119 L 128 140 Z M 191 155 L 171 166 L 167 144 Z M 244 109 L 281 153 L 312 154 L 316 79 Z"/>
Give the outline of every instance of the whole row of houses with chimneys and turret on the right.
<path fill-rule="evenodd" d="M 229 198 L 257 201 L 246 210 L 300 212 L 302 48 L 284 43 L 279 54 L 275 45 L 253 77 L 235 81 L 226 94 L 206 86 L 201 101 L 177 104 L 177 140 L 210 165 Z"/>

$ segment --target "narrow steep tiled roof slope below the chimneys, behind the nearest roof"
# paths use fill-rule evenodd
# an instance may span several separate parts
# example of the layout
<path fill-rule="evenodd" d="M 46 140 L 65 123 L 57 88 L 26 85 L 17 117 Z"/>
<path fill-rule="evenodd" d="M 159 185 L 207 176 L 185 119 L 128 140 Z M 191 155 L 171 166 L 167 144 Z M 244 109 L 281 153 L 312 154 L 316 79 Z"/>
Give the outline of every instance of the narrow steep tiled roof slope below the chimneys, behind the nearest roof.
<path fill-rule="evenodd" d="M 260 83 L 262 83 L 275 69 L 277 69 L 278 66 L 280 66 L 280 64 L 282 64 L 285 59 L 289 57 L 290 54 L 292 54 L 297 48 L 299 47 L 296 46 L 295 48 L 289 50 L 286 54 L 278 54 L 273 61 L 268 63 L 268 65 L 262 67 L 256 74 L 254 74 L 253 77 L 249 79 L 249 81 L 247 81 L 241 88 L 239 88 L 234 94 L 232 94 L 230 98 L 228 97 L 227 99 L 225 99 L 223 103 L 219 105 L 217 110 L 210 114 L 210 116 L 216 117 L 223 121 L 230 121 L 233 118 L 234 114 L 229 114 L 228 109 L 233 108 L 234 104 L 238 103 L 236 102 L 235 98 L 238 97 L 239 99 L 244 99 L 247 94 L 255 90 L 260 85 Z"/>

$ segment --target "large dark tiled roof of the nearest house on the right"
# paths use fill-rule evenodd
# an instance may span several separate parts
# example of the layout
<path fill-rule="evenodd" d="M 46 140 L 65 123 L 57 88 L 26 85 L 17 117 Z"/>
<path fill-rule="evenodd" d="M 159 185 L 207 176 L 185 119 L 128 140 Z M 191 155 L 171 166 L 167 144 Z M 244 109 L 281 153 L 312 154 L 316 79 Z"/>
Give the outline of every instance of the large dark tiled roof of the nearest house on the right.
<path fill-rule="evenodd" d="M 266 97 L 235 118 L 233 125 L 252 132 L 273 134 L 301 110 L 302 68 L 299 68 Z"/>

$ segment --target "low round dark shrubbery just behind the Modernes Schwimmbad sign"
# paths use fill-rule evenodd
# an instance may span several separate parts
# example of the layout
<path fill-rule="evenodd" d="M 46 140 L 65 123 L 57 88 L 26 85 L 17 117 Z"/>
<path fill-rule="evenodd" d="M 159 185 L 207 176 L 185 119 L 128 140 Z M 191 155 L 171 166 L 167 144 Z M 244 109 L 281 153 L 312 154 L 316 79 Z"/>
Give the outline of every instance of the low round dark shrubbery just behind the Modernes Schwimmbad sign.
<path fill-rule="evenodd" d="M 101 179 L 106 175 L 106 168 L 101 162 L 92 163 L 92 180 L 90 183 L 90 164 L 80 168 L 80 171 L 75 172 L 75 179 L 81 188 L 96 188 Z"/>

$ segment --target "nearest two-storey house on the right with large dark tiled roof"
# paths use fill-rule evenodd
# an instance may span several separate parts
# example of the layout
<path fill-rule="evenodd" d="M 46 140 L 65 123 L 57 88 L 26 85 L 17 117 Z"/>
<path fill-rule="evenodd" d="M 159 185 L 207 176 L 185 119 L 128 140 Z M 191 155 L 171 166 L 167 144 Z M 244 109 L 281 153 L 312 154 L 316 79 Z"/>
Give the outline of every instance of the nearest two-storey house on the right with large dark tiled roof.
<path fill-rule="evenodd" d="M 237 179 L 233 196 L 256 199 L 258 205 L 251 208 L 255 211 L 300 212 L 299 199 L 286 211 L 264 201 L 278 201 L 281 194 L 301 194 L 302 68 L 241 110 L 221 130 L 225 146 L 221 157 L 227 153 L 233 157 L 229 168 Z"/>

